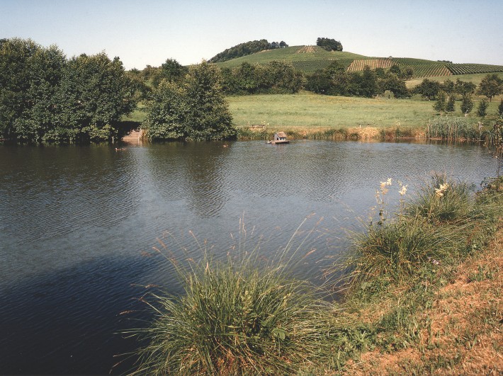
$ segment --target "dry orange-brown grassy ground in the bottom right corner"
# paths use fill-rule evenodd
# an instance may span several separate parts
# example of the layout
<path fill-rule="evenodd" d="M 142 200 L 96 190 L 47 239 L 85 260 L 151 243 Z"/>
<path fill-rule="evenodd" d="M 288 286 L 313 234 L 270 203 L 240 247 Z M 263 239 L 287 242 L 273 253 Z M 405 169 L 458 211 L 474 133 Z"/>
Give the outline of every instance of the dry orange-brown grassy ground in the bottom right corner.
<path fill-rule="evenodd" d="M 347 375 L 503 375 L 503 228 L 488 251 L 460 265 L 420 317 L 428 323 L 416 346 L 376 348 Z"/>

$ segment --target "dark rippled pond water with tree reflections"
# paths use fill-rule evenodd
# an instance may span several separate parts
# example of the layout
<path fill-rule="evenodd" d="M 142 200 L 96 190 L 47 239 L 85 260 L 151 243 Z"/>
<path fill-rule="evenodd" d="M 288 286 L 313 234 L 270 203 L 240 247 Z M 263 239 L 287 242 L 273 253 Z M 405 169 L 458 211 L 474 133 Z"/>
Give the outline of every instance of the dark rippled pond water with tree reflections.
<path fill-rule="evenodd" d="M 294 248 L 315 229 L 302 249 L 315 251 L 292 273 L 321 283 L 380 181 L 393 203 L 397 181 L 412 194 L 440 171 L 478 187 L 496 165 L 477 145 L 420 142 L 1 146 L 0 373 L 108 373 L 136 346 L 117 333 L 148 318 L 142 286 L 179 291 L 157 238 L 181 260 L 204 244 L 223 258 L 241 221 L 270 256 L 307 218 Z"/>

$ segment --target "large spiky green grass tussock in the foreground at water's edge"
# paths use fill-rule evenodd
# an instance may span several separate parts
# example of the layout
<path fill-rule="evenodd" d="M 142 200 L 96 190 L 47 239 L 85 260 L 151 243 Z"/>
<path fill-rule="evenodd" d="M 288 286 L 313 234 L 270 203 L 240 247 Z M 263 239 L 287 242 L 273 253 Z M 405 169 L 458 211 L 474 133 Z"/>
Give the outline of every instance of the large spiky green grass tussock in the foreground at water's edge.
<path fill-rule="evenodd" d="M 188 268 L 175 263 L 184 292 L 151 296 L 152 326 L 132 331 L 147 342 L 133 373 L 278 375 L 326 359 L 329 304 L 315 286 L 290 278 L 285 260 L 205 254 Z"/>

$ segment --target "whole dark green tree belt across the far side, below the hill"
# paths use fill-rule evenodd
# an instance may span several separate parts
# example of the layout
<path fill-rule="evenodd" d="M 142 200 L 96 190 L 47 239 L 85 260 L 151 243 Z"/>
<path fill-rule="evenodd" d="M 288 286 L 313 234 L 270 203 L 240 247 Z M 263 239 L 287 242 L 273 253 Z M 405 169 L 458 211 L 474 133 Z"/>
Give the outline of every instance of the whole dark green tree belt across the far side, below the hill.
<path fill-rule="evenodd" d="M 220 69 L 209 62 L 183 67 L 166 59 L 161 67 L 125 71 L 118 57 L 104 52 L 67 58 L 56 46 L 32 40 L 0 40 L 0 139 L 33 143 L 110 141 L 128 129 L 124 115 L 143 101 L 148 137 L 161 139 L 232 139 L 236 130 L 225 95 L 297 93 L 301 89 L 334 96 L 414 94 L 436 101 L 439 111 L 473 108 L 473 94 L 489 101 L 503 92 L 503 80 L 487 74 L 477 87 L 470 82 L 424 79 L 412 90 L 405 81 L 409 69 L 370 69 L 346 72 L 337 61 L 313 74 L 297 71 L 289 62 L 242 63 Z M 485 115 L 487 101 L 477 114 Z M 499 106 L 503 115 L 503 101 Z"/>

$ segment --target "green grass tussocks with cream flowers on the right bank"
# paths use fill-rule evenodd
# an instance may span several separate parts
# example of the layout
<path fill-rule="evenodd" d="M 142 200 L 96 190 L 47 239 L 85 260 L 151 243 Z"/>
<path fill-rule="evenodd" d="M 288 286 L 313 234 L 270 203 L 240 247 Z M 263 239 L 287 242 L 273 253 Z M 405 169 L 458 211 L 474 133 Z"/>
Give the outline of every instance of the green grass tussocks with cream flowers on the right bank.
<path fill-rule="evenodd" d="M 466 249 L 474 223 L 470 217 L 474 215 L 473 200 L 466 184 L 436 174 L 414 198 L 402 197 L 400 209 L 388 215 L 384 197 L 391 185 L 388 179 L 376 191 L 378 221 L 371 220 L 363 232 L 351 235 L 349 256 L 342 265 L 349 270 L 350 288 L 376 281 L 402 283 L 424 267 L 456 261 Z M 400 183 L 399 193 L 404 196 L 407 186 Z M 330 271 L 336 268 L 341 266 Z"/>

